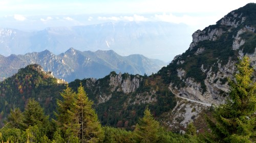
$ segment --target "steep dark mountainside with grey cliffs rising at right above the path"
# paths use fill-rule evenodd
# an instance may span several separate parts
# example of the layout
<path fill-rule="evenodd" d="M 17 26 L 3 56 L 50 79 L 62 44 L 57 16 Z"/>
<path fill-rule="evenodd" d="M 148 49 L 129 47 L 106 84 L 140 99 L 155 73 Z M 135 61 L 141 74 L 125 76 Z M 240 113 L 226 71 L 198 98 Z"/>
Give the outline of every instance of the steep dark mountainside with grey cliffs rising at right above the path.
<path fill-rule="evenodd" d="M 255 12 L 256 4 L 247 4 L 220 19 L 216 25 L 210 25 L 203 31 L 196 31 L 189 49 L 176 56 L 169 69 L 172 89 L 178 95 L 202 101 L 220 104 L 225 102 L 229 91 L 227 78 L 236 71 L 239 58 L 248 55 L 255 67 L 256 52 L 253 41 L 256 40 Z M 253 44 L 252 44 L 253 43 Z M 168 69 L 168 66 L 167 66 Z M 162 73 L 163 70 L 159 73 Z"/>

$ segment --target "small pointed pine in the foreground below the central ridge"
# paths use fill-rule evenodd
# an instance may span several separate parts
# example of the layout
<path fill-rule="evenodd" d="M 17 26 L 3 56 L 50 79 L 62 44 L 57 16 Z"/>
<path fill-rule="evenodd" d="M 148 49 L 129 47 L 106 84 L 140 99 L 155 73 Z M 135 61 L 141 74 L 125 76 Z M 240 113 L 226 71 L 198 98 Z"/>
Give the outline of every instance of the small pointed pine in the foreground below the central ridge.
<path fill-rule="evenodd" d="M 139 142 L 157 142 L 158 132 L 160 129 L 159 122 L 157 122 L 148 107 L 144 110 L 143 118 L 139 119 L 139 123 L 134 130 Z"/>

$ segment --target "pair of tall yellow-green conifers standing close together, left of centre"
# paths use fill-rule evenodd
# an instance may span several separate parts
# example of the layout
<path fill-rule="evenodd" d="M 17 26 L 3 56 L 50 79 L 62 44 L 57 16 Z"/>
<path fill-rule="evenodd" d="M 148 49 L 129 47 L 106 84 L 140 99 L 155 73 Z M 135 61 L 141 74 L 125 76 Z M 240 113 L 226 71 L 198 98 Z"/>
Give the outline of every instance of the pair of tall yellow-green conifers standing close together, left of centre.
<path fill-rule="evenodd" d="M 63 101 L 58 100 L 58 123 L 63 125 L 62 132 L 66 141 L 99 142 L 104 137 L 98 116 L 92 108 L 93 102 L 89 100 L 81 83 L 77 93 L 68 87 L 60 94 Z M 72 141 L 73 142 L 73 141 Z"/>

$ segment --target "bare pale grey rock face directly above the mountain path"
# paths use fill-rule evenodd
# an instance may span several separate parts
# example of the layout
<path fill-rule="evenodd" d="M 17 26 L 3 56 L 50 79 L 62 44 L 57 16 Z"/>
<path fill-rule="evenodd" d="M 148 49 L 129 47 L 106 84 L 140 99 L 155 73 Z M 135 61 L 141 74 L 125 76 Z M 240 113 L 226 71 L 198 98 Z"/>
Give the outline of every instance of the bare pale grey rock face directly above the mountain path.
<path fill-rule="evenodd" d="M 219 63 L 218 66 L 219 71 L 217 73 L 215 73 L 211 69 L 206 73 L 207 77 L 204 80 L 204 83 L 206 85 L 205 92 L 203 92 L 200 82 L 196 82 L 195 79 L 191 77 L 184 78 L 186 72 L 182 69 L 177 70 L 177 75 L 178 77 L 180 77 L 181 80 L 184 80 L 186 86 L 183 88 L 175 87 L 173 90 L 175 90 L 178 93 L 178 95 L 192 100 L 201 101 L 208 104 L 225 103 L 226 95 L 221 95 L 221 93 L 228 93 L 229 86 L 227 81 L 224 82 L 223 80 L 231 78 L 232 73 L 234 73 L 236 66 L 235 62 L 231 60 L 229 60 L 229 62 L 226 65 L 222 66 Z M 204 72 L 206 72 L 206 70 L 204 70 Z M 171 85 L 172 84 L 173 83 L 171 83 Z"/>

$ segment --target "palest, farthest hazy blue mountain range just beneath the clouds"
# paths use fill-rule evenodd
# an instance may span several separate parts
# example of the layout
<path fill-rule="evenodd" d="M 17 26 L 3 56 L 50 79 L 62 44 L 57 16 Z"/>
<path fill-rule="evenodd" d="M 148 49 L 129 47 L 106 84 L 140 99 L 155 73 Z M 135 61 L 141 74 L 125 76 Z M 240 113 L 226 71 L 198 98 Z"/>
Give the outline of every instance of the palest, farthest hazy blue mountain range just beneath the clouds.
<path fill-rule="evenodd" d="M 184 36 L 188 31 L 185 24 L 167 22 L 108 22 L 34 32 L 0 28 L 0 54 L 8 56 L 46 49 L 59 54 L 73 47 L 80 51 L 112 49 L 121 55 L 143 53 L 153 59 L 171 61 L 181 52 L 181 47 L 184 50 L 188 47 L 191 36 Z"/>

